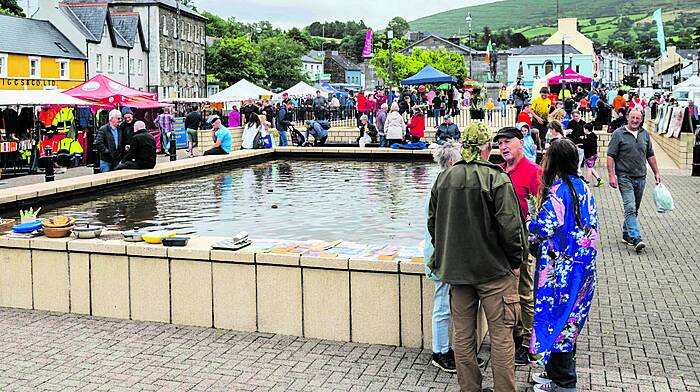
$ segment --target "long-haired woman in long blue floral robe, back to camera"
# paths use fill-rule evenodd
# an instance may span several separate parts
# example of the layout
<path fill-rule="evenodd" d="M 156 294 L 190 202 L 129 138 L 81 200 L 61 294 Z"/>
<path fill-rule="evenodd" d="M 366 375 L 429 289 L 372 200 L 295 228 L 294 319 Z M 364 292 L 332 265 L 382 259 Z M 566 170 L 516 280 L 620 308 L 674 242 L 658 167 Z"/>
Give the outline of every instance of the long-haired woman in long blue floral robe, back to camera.
<path fill-rule="evenodd" d="M 528 224 L 539 244 L 530 354 L 545 365 L 535 391 L 576 390 L 576 339 L 595 290 L 598 218 L 588 186 L 576 173 L 576 146 L 552 142 L 542 164 L 542 189 Z"/>

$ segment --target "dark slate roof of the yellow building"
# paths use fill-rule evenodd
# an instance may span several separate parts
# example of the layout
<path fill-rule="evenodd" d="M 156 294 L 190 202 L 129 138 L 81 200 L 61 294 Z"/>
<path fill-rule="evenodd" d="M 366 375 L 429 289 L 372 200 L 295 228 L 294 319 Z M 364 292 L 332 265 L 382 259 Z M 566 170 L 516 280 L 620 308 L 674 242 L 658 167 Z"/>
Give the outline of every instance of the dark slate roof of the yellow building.
<path fill-rule="evenodd" d="M 51 22 L 0 14 L 0 52 L 85 59 Z"/>

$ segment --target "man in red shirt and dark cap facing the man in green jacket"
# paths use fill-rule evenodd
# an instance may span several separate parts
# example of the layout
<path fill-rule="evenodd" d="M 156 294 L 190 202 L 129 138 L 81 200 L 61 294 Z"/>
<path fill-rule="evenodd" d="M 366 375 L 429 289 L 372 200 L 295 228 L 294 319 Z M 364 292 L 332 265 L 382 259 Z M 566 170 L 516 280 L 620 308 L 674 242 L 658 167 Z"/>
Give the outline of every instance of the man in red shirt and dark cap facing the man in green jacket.
<path fill-rule="evenodd" d="M 508 173 L 513 182 L 515 193 L 520 203 L 520 214 L 523 220 L 529 220 L 530 207 L 528 198 L 536 196 L 541 184 L 541 170 L 539 166 L 525 158 L 523 154 L 523 134 L 517 128 L 501 128 L 493 139 L 498 143 L 501 156 L 505 163 L 501 166 Z M 535 303 L 533 297 L 534 262 L 532 257 L 527 263 L 520 266 L 520 281 L 518 294 L 520 295 L 520 320 L 513 335 L 515 338 L 515 364 L 527 365 L 530 363 L 528 352 L 530 349 L 530 337 L 532 335 L 532 320 L 535 316 Z"/>

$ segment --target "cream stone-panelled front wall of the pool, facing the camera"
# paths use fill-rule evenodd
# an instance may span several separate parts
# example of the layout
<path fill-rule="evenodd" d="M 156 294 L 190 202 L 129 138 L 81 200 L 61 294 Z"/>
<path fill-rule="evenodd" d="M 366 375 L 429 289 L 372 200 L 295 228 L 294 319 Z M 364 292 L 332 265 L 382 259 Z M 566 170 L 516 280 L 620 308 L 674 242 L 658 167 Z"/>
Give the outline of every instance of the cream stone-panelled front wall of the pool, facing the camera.
<path fill-rule="evenodd" d="M 211 250 L 219 240 L 0 237 L 0 306 L 430 349 L 422 262 Z M 483 312 L 478 325 L 480 344 Z"/>

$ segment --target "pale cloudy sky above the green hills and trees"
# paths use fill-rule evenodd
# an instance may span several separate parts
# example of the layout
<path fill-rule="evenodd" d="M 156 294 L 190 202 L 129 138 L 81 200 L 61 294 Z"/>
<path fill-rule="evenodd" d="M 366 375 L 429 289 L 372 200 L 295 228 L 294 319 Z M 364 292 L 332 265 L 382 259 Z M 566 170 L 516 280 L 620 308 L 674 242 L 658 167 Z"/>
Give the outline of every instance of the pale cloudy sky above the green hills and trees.
<path fill-rule="evenodd" d="M 407 21 L 438 12 L 494 0 L 195 0 L 200 11 L 206 10 L 239 22 L 268 20 L 275 27 L 290 29 L 312 22 L 334 20 L 359 21 L 380 30 L 395 16 Z"/>

